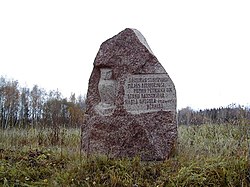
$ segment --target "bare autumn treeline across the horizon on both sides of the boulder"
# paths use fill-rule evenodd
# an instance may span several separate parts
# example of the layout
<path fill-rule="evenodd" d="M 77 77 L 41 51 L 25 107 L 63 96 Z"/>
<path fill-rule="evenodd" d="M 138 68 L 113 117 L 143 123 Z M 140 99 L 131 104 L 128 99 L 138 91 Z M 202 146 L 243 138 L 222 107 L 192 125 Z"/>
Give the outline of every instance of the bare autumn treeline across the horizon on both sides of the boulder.
<path fill-rule="evenodd" d="M 84 120 L 85 97 L 71 94 L 63 98 L 58 90 L 46 91 L 34 85 L 21 87 L 16 80 L 0 77 L 0 128 L 79 127 Z M 236 104 L 228 107 L 178 111 L 179 125 L 250 124 L 250 108 Z"/>

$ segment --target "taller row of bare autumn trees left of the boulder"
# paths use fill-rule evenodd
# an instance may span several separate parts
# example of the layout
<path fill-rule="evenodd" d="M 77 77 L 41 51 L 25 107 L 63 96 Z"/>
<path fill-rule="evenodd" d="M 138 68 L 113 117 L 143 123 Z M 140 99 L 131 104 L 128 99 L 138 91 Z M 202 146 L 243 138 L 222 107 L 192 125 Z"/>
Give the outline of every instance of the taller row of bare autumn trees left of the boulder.
<path fill-rule="evenodd" d="M 85 97 L 63 98 L 58 90 L 21 87 L 18 81 L 0 78 L 0 127 L 59 125 L 77 127 L 82 124 Z"/>

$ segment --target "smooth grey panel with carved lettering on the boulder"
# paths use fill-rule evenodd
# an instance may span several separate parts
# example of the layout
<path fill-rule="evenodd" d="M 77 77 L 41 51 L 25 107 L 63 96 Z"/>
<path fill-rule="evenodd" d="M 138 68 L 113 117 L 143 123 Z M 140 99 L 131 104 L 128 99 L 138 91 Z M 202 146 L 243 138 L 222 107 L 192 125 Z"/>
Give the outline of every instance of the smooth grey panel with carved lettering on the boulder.
<path fill-rule="evenodd" d="M 131 75 L 124 86 L 124 107 L 132 114 L 175 110 L 175 89 L 166 74 Z"/>

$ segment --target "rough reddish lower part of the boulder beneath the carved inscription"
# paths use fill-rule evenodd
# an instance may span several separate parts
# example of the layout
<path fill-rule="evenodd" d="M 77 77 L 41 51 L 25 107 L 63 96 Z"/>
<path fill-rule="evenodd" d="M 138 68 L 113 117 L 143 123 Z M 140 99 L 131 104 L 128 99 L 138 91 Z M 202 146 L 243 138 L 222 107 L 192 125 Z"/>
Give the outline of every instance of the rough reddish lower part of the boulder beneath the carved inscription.
<path fill-rule="evenodd" d="M 83 149 L 91 155 L 111 158 L 164 160 L 176 143 L 177 126 L 172 112 L 95 116 L 82 127 Z"/>

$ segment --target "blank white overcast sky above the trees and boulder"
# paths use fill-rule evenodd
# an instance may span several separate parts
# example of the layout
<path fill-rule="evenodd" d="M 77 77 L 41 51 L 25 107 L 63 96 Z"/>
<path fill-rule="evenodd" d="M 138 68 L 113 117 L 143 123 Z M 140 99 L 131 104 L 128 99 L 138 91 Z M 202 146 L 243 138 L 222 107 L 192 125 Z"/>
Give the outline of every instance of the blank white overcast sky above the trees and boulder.
<path fill-rule="evenodd" d="M 86 94 L 101 43 L 125 28 L 144 35 L 179 109 L 250 105 L 249 0 L 1 0 L 0 76 Z"/>

